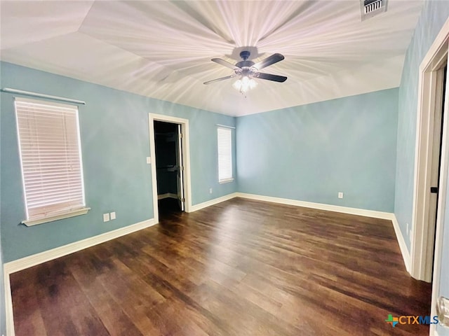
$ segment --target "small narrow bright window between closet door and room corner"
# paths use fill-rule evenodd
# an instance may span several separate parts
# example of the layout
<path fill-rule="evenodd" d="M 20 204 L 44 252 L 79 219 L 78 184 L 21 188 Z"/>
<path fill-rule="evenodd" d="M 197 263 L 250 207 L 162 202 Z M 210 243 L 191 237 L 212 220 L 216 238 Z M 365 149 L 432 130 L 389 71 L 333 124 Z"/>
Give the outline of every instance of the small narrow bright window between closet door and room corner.
<path fill-rule="evenodd" d="M 233 181 L 232 178 L 232 130 L 218 127 L 218 182 Z"/>

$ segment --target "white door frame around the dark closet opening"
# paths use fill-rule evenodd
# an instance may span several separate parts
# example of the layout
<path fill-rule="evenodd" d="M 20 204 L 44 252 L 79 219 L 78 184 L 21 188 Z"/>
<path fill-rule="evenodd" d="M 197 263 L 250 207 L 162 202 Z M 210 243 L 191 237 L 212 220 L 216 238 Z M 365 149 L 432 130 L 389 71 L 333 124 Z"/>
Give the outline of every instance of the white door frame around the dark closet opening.
<path fill-rule="evenodd" d="M 156 175 L 156 147 L 154 141 L 154 121 L 163 121 L 181 125 L 182 146 L 181 155 L 184 167 L 184 197 L 185 212 L 190 212 L 192 208 L 192 185 L 190 183 L 190 141 L 189 141 L 189 120 L 163 114 L 149 113 L 149 151 L 152 165 L 152 191 L 153 191 L 153 217 L 159 223 L 159 206 L 157 200 L 157 175 Z"/>

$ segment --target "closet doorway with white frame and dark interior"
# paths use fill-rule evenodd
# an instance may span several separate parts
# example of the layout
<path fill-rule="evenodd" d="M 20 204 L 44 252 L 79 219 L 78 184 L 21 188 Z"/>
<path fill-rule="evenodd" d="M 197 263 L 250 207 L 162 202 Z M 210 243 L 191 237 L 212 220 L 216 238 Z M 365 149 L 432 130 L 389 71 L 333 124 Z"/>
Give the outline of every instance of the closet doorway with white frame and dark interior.
<path fill-rule="evenodd" d="M 149 114 L 154 218 L 189 211 L 188 120 Z"/>

